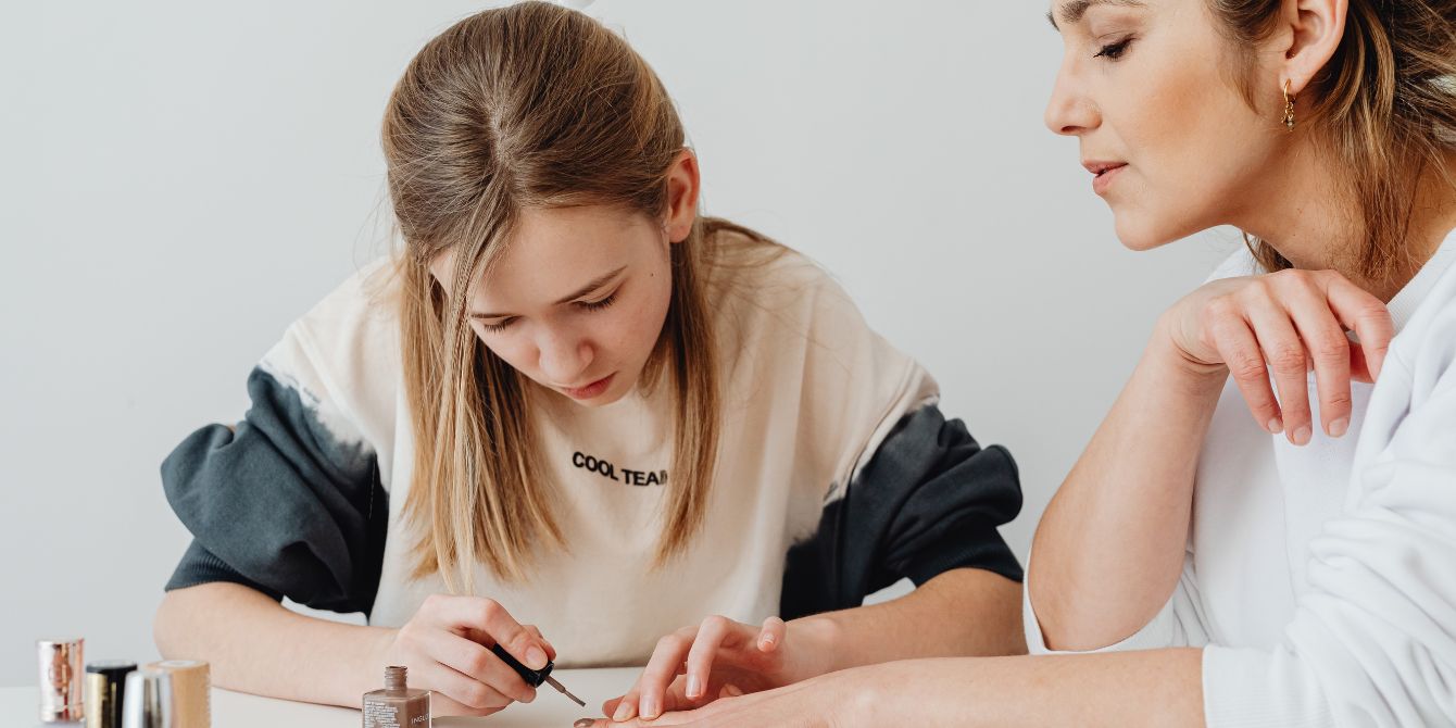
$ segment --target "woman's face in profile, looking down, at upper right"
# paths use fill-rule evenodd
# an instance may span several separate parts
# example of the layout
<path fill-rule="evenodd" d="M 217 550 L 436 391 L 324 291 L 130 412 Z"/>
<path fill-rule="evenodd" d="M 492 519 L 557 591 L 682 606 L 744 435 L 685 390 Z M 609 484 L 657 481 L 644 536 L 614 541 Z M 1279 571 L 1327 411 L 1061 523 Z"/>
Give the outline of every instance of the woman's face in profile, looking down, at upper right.
<path fill-rule="evenodd" d="M 1270 172 L 1289 146 L 1275 66 L 1259 60 L 1251 109 L 1206 0 L 1056 0 L 1051 19 L 1066 51 L 1045 122 L 1080 141 L 1123 245 L 1232 223 L 1278 194 Z"/>

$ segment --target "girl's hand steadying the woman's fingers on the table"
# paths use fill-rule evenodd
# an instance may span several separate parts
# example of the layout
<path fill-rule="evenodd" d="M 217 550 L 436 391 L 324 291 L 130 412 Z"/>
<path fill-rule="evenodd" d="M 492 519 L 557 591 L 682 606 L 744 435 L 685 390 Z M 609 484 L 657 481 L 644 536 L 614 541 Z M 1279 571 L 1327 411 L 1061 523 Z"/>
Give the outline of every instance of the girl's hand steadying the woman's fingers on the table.
<path fill-rule="evenodd" d="M 779 617 L 761 628 L 713 616 L 664 636 L 632 690 L 601 706 L 613 721 L 687 711 L 719 697 L 757 693 L 828 671 L 827 639 Z M 802 629 L 799 629 L 802 628 Z"/>

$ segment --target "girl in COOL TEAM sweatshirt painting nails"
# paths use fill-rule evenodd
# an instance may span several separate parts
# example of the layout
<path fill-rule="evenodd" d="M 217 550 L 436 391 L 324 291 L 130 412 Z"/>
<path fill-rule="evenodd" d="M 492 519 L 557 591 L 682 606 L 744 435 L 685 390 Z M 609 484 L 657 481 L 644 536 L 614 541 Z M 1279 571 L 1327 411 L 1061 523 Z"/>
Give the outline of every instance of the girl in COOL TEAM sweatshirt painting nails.
<path fill-rule="evenodd" d="M 402 255 L 163 464 L 195 536 L 165 655 L 336 705 L 402 664 L 437 712 L 489 713 L 534 695 L 492 645 L 641 664 L 713 613 L 782 644 L 735 690 L 1016 649 L 1009 454 L 820 269 L 699 217 L 681 122 L 620 38 L 545 3 L 472 16 L 409 64 L 383 143 Z M 855 609 L 901 577 L 923 588 Z"/>

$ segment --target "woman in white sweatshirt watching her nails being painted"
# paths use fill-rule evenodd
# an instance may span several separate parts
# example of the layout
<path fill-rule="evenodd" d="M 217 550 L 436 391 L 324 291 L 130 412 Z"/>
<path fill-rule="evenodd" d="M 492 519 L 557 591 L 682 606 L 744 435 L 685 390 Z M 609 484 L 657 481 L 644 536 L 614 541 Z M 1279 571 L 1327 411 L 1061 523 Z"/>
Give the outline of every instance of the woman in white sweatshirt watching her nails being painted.
<path fill-rule="evenodd" d="M 847 670 L 654 725 L 1452 725 L 1456 1 L 1051 19 L 1047 124 L 1123 242 L 1252 236 L 1160 317 L 1038 527 L 1028 642 L 1083 654 Z"/>

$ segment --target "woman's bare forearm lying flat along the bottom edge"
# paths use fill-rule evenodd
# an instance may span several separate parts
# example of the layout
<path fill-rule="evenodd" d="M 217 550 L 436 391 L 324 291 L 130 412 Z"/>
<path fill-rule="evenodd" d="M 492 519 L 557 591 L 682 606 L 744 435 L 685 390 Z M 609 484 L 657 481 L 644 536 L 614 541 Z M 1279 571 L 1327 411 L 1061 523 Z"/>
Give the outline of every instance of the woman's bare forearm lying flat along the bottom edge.
<path fill-rule="evenodd" d="M 866 725 L 1200 727 L 1203 651 L 914 660 L 877 665 Z"/>

